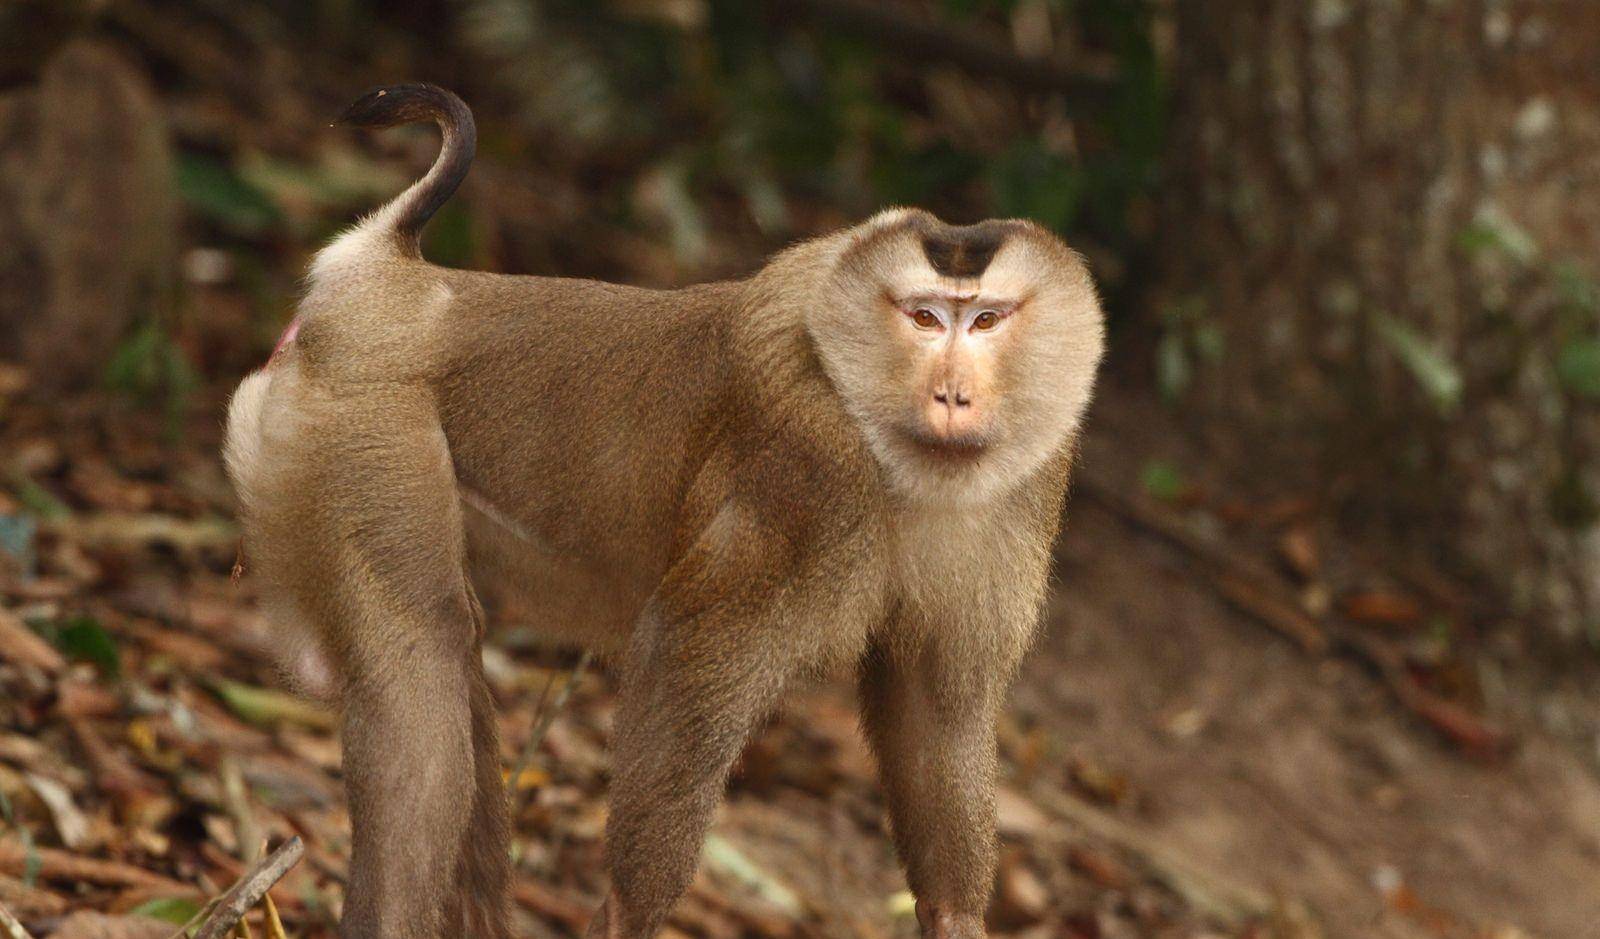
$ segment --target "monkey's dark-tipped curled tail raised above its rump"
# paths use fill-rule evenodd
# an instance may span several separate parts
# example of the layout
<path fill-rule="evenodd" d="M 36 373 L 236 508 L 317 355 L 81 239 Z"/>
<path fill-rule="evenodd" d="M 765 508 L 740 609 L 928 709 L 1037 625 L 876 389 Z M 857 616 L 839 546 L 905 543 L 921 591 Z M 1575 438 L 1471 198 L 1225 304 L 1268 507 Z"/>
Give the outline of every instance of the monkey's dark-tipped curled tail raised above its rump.
<path fill-rule="evenodd" d="M 363 232 L 394 232 L 402 251 L 418 256 L 418 235 L 438 206 L 445 205 L 472 166 L 478 131 L 472 110 L 437 85 L 389 85 L 360 96 L 338 123 L 387 128 L 432 120 L 443 134 L 438 158 L 426 176 L 360 224 Z"/>

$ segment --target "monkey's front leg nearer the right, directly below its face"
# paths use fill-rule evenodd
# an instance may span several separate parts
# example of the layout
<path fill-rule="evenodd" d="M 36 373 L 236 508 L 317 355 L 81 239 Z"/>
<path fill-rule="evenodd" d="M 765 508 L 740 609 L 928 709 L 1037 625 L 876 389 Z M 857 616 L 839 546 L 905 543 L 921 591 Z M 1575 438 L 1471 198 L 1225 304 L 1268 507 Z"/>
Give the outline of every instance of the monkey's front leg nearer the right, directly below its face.
<path fill-rule="evenodd" d="M 1011 665 L 994 649 L 874 649 L 864 723 L 923 939 L 984 939 L 995 872 L 995 715 Z"/>

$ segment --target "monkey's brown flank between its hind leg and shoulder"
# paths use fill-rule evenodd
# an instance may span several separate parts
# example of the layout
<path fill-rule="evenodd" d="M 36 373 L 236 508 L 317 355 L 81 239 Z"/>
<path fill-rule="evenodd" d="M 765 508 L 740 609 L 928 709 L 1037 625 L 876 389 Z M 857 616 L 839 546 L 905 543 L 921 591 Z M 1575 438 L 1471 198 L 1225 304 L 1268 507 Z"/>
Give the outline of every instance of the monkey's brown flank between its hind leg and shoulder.
<path fill-rule="evenodd" d="M 611 605 L 603 619 L 624 627 L 664 573 L 717 445 L 739 285 L 446 275 L 440 422 L 469 505 L 474 493 L 514 494 L 475 505 L 490 521 L 474 526 L 486 533 L 480 553 L 546 609 Z"/>

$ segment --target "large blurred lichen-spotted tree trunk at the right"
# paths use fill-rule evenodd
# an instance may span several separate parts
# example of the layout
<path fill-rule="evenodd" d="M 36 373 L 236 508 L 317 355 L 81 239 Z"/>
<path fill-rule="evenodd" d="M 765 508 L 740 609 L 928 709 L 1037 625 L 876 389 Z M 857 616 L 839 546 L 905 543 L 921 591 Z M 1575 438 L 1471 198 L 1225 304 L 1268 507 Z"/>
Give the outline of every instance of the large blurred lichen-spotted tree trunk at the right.
<path fill-rule="evenodd" d="M 1600 8 L 1176 8 L 1163 349 L 1221 334 L 1203 422 L 1600 635 Z"/>

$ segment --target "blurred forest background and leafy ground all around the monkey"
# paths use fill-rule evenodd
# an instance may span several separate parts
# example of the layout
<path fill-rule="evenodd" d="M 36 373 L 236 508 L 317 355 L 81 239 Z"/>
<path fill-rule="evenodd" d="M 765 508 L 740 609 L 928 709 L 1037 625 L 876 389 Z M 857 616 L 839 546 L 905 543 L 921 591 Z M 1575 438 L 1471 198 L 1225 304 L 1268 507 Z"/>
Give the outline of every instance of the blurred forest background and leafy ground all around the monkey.
<path fill-rule="evenodd" d="M 328 122 L 430 80 L 480 133 L 440 264 L 672 286 L 894 203 L 1090 258 L 997 936 L 1600 936 L 1597 48 L 1590 0 L 0 0 L 0 905 L 168 936 L 299 833 L 272 896 L 333 934 L 334 718 L 216 450 L 437 149 Z M 518 934 L 573 936 L 611 683 L 499 619 Z M 674 936 L 915 934 L 846 683 L 702 867 Z"/>

